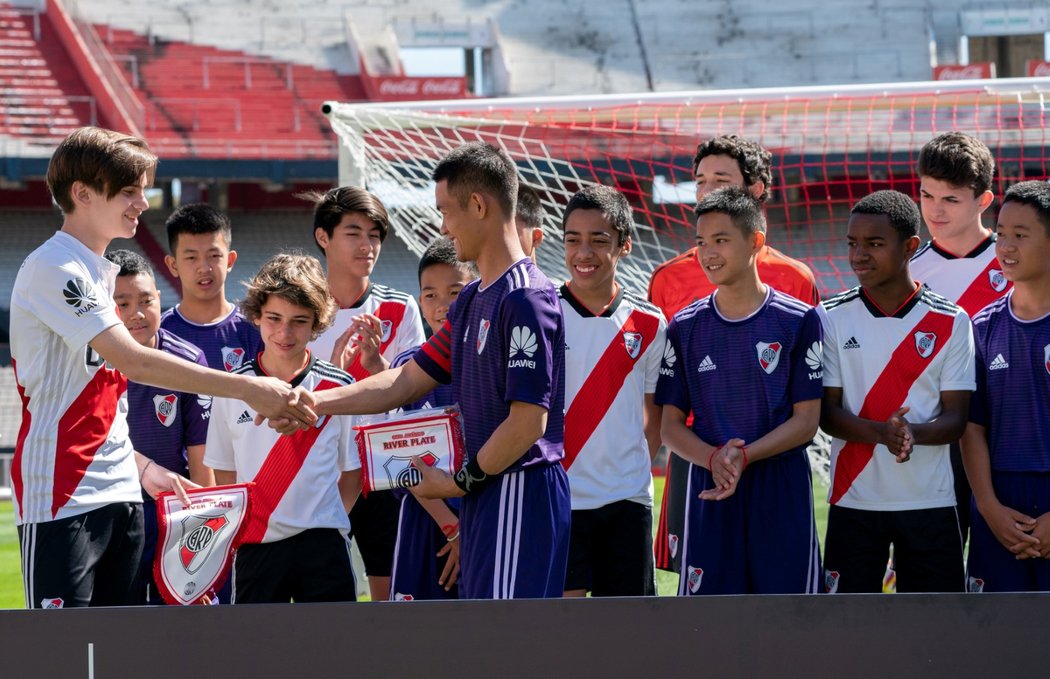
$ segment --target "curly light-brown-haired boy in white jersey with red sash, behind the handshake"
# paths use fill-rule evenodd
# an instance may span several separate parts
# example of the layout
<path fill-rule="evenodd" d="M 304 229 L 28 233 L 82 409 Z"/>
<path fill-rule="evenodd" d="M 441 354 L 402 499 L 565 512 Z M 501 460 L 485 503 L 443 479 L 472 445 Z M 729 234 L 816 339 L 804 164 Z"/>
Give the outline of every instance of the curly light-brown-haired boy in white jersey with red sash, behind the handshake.
<path fill-rule="evenodd" d="M 242 302 L 266 349 L 237 373 L 268 375 L 321 391 L 354 379 L 317 359 L 307 343 L 332 322 L 335 302 L 320 262 L 276 255 L 262 264 Z M 353 601 L 346 513 L 360 491 L 353 420 L 320 419 L 282 437 L 253 424 L 255 410 L 215 399 L 205 462 L 222 484 L 254 482 L 244 544 L 233 561 L 233 603 Z"/>

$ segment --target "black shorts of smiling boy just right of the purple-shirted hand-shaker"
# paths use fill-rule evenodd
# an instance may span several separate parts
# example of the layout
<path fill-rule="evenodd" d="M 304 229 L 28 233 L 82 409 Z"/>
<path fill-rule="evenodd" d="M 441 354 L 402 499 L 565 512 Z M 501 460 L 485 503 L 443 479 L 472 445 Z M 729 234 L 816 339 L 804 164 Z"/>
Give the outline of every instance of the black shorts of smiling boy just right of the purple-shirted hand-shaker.
<path fill-rule="evenodd" d="M 653 510 L 629 500 L 572 512 L 565 589 L 654 596 Z"/>

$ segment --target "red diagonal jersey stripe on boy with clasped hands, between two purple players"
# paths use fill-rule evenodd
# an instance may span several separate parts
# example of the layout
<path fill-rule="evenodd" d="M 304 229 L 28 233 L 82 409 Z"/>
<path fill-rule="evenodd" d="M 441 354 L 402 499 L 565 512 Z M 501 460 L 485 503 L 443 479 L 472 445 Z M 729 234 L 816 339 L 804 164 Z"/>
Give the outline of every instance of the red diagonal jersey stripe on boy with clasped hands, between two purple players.
<path fill-rule="evenodd" d="M 954 325 L 954 318 L 947 314 L 929 312 L 923 316 L 922 320 L 908 331 L 904 336 L 904 341 L 894 349 L 892 356 L 882 368 L 882 374 L 872 385 L 872 389 L 864 398 L 864 405 L 861 406 L 857 417 L 876 422 L 885 422 L 898 408 L 904 404 L 904 400 L 911 390 L 919 376 L 923 374 L 941 349 L 947 345 L 951 338 L 951 331 Z M 919 356 L 916 348 L 916 333 L 934 333 L 937 342 L 933 351 L 927 358 Z M 856 443 L 848 441 L 839 452 L 835 462 L 835 481 L 832 486 L 831 504 L 838 503 L 849 490 L 849 486 L 857 480 L 860 472 L 875 454 L 874 443 Z"/>

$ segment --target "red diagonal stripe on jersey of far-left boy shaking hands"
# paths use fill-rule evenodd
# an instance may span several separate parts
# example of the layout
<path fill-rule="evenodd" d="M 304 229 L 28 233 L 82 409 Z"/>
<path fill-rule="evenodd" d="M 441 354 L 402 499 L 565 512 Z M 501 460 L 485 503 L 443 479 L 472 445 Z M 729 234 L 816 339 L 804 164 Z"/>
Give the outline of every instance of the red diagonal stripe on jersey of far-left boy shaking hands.
<path fill-rule="evenodd" d="M 117 418 L 117 403 L 127 390 L 127 384 L 117 370 L 100 367 L 59 420 L 55 485 L 51 487 L 52 517 L 72 497 L 94 453 L 109 438 Z"/>

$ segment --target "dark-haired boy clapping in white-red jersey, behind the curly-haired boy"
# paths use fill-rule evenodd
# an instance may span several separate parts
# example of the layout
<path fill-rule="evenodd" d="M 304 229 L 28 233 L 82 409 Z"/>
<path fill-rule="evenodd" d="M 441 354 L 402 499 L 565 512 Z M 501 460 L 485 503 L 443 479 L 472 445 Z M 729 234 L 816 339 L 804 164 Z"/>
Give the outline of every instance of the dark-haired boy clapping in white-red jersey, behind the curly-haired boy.
<path fill-rule="evenodd" d="M 314 240 L 324 254 L 329 290 L 339 305 L 332 327 L 310 349 L 361 380 L 423 343 L 419 306 L 411 295 L 370 278 L 390 233 L 390 216 L 379 198 L 352 186 L 303 197 L 314 203 Z M 350 517 L 373 601 L 390 595 L 399 507 L 392 491 L 369 493 Z"/>

